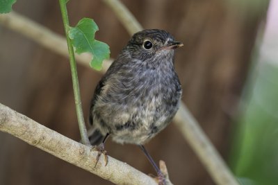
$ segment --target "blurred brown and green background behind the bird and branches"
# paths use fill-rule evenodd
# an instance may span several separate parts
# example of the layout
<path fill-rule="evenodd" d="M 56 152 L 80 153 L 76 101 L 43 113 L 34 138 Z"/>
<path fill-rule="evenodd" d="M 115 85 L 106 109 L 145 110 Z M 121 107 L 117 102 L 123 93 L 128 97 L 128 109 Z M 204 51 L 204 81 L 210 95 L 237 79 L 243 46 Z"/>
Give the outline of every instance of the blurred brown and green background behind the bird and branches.
<path fill-rule="evenodd" d="M 175 66 L 183 103 L 242 184 L 278 182 L 277 2 L 266 0 L 123 1 L 144 28 L 183 42 Z M 91 17 L 111 58 L 130 35 L 103 1 L 67 3 L 70 24 Z M 276 8 L 276 9 L 275 9 Z M 64 35 L 58 1 L 18 1 L 15 12 Z M 0 15 L 3 16 L 3 15 Z M 272 21 L 271 21 L 272 20 Z M 0 103 L 79 141 L 67 58 L 0 24 Z M 276 49 L 276 50 L 275 50 Z M 83 112 L 101 74 L 78 65 Z M 0 184 L 112 184 L 0 132 Z M 146 148 L 163 159 L 174 184 L 214 184 L 174 124 Z M 155 174 L 137 146 L 106 144 L 108 155 Z"/>

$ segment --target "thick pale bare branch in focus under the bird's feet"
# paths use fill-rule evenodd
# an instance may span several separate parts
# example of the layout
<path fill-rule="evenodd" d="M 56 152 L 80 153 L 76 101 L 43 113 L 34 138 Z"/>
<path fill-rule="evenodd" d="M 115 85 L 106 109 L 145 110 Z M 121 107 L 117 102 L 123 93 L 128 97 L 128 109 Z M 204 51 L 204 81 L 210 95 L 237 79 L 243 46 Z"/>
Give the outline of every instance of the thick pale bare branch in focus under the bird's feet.
<path fill-rule="evenodd" d="M 101 155 L 96 168 L 94 168 L 97 151 L 50 130 L 1 103 L 0 131 L 12 134 L 31 146 L 40 148 L 114 184 L 157 185 L 156 181 L 148 175 L 113 157 L 109 157 L 107 166 L 104 166 L 104 159 Z"/>

